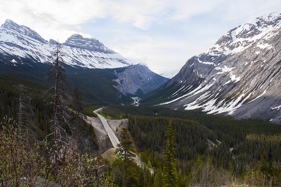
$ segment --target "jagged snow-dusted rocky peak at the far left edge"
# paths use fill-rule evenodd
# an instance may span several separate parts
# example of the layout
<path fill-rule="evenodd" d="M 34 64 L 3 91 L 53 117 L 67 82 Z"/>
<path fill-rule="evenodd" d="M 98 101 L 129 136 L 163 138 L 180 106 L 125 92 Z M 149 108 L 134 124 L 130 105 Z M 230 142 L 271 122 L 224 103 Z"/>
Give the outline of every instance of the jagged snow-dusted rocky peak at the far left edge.
<path fill-rule="evenodd" d="M 8 30 L 8 31 L 15 31 L 18 34 L 29 36 L 37 41 L 40 41 L 42 43 L 47 43 L 46 40 L 44 40 L 37 32 L 33 31 L 27 26 L 19 25 L 16 22 L 13 22 L 10 19 L 6 19 L 4 24 L 1 26 L 2 28 Z"/>

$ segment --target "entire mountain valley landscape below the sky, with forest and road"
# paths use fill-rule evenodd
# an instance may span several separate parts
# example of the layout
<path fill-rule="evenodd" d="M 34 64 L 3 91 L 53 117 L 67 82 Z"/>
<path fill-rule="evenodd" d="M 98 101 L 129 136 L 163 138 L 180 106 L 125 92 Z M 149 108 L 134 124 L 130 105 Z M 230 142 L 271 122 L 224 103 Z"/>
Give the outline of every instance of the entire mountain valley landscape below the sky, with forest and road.
<path fill-rule="evenodd" d="M 168 79 L 6 20 L 0 187 L 281 186 L 280 37 L 280 12 L 258 17 Z"/>

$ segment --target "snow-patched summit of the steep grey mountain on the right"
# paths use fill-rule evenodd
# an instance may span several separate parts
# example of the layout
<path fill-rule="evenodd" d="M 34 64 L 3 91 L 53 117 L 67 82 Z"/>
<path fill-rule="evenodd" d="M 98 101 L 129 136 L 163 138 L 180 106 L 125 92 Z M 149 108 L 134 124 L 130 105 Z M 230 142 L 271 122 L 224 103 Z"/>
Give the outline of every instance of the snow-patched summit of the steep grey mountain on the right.
<path fill-rule="evenodd" d="M 281 12 L 274 12 L 254 19 L 252 22 L 245 23 L 224 34 L 215 45 L 205 53 L 213 55 L 236 54 L 256 42 L 260 47 L 270 47 L 266 41 L 276 35 L 276 31 L 281 27 Z"/>

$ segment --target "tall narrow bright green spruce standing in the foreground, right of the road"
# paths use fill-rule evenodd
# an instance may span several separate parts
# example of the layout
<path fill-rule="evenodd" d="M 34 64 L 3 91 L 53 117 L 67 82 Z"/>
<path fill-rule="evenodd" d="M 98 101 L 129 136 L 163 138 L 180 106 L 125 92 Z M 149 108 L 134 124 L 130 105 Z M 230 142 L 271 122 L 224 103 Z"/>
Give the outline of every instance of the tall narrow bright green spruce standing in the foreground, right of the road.
<path fill-rule="evenodd" d="M 165 187 L 175 187 L 177 186 L 177 169 L 175 166 L 175 144 L 174 144 L 174 130 L 172 129 L 171 120 L 169 121 L 168 128 L 165 133 L 166 146 L 163 153 L 165 156 L 165 164 L 163 166 L 164 170 L 164 186 Z"/>

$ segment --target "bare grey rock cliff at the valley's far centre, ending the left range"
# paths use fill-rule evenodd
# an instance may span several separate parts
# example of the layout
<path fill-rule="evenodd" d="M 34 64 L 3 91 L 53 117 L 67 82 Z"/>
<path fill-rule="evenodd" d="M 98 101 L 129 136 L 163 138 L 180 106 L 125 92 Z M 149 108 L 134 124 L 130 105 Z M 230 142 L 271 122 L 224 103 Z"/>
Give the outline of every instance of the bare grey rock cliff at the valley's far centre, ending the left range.
<path fill-rule="evenodd" d="M 136 95 L 157 89 L 169 80 L 154 73 L 144 65 L 127 66 L 121 72 L 115 71 L 115 74 L 119 78 L 114 80 L 119 85 L 117 87 L 121 88 L 123 93 Z"/>

